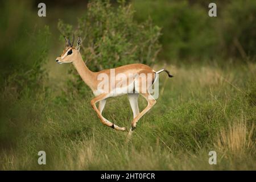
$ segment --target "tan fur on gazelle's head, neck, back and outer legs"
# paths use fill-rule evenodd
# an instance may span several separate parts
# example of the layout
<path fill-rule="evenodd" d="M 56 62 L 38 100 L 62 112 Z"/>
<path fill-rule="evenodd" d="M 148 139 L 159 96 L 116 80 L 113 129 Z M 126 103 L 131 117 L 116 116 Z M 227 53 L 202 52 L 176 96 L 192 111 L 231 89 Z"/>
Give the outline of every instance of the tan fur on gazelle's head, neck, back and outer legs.
<path fill-rule="evenodd" d="M 70 49 L 72 49 L 72 54 L 65 56 L 65 54 Z M 65 56 L 65 57 L 63 57 L 63 56 Z M 61 58 L 61 57 L 63 57 L 63 58 Z M 110 69 L 104 69 L 100 72 L 90 71 L 88 69 L 88 67 L 86 67 L 84 61 L 82 60 L 79 49 L 76 49 L 75 47 L 66 47 L 63 51 L 63 54 L 60 57 L 57 57 L 56 61 L 57 61 L 57 63 L 73 63 L 73 65 L 77 69 L 77 72 L 81 76 L 82 80 L 85 82 L 86 85 L 88 85 L 90 87 L 90 89 L 92 89 L 93 92 L 97 91 L 98 84 L 100 83 L 100 80 L 97 80 L 98 75 L 100 75 L 101 73 L 105 73 L 106 75 L 108 75 L 110 77 Z M 150 73 L 152 82 L 154 82 L 155 75 L 156 75 L 155 71 L 152 68 L 150 68 L 144 64 L 129 64 L 129 65 L 124 65 L 122 67 L 117 67 L 117 68 L 115 68 L 115 76 L 117 76 L 118 73 L 125 74 L 127 79 L 128 79 L 129 74 L 131 74 L 131 73 L 138 74 L 138 75 L 141 75 L 141 73 L 144 73 L 146 75 L 146 78 L 148 76 L 147 74 Z M 115 78 L 114 86 L 117 85 L 118 81 L 119 80 L 117 78 Z M 139 82 L 142 82 L 142 81 L 143 81 L 143 78 L 140 78 Z M 152 82 L 150 82 L 146 85 L 146 90 L 148 90 L 148 88 L 152 85 Z M 139 84 L 139 85 L 140 85 L 139 90 L 140 91 L 143 90 L 144 89 L 144 88 L 142 88 L 143 84 Z M 134 117 L 133 122 L 131 123 L 132 128 L 130 130 L 129 135 L 132 133 L 132 130 L 135 129 L 136 124 L 137 124 L 138 120 L 142 117 L 142 115 L 144 115 L 148 110 L 150 110 L 151 107 L 156 103 L 154 98 L 149 99 L 152 96 L 150 96 L 150 93 L 148 93 L 148 91 L 146 93 L 141 93 L 141 92 L 139 92 L 139 93 L 147 100 L 148 105 L 144 110 L 142 110 L 141 113 L 137 113 L 137 115 Z M 93 98 L 93 100 L 91 101 L 91 105 L 92 105 L 93 109 L 96 111 L 101 122 L 104 123 L 104 125 L 113 127 L 116 130 L 124 131 L 125 130 L 124 127 L 119 127 L 117 125 L 114 125 L 112 122 L 109 122 L 107 119 L 102 117 L 101 111 L 98 110 L 98 108 L 96 107 L 97 102 L 103 101 L 108 97 L 109 96 L 107 93 L 99 94 L 95 98 Z"/>

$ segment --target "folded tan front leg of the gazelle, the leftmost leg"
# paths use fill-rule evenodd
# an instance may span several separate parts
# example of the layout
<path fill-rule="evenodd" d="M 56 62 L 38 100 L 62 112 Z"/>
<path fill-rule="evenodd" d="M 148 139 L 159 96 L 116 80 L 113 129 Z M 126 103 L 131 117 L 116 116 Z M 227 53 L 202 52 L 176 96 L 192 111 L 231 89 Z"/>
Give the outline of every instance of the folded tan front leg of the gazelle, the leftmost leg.
<path fill-rule="evenodd" d="M 93 98 L 92 101 L 90 101 L 90 104 L 92 105 L 93 109 L 96 111 L 97 115 L 98 115 L 98 118 L 100 118 L 101 122 L 106 125 L 106 126 L 109 126 L 109 127 L 112 127 L 113 129 L 115 130 L 121 130 L 121 131 L 125 131 L 125 127 L 119 127 L 117 125 L 114 125 L 112 122 L 108 121 L 107 119 L 105 119 L 104 117 L 102 117 L 101 113 L 102 113 L 102 110 L 103 110 L 103 106 L 99 106 L 101 107 L 101 111 L 99 111 L 96 107 L 96 103 L 99 102 L 99 101 L 102 101 L 102 100 L 105 100 L 106 98 L 108 98 L 108 94 L 100 94 L 100 96 L 97 96 L 95 98 Z M 101 104 L 104 104 L 104 101 L 103 103 Z M 105 104 L 104 104 L 105 106 Z"/>

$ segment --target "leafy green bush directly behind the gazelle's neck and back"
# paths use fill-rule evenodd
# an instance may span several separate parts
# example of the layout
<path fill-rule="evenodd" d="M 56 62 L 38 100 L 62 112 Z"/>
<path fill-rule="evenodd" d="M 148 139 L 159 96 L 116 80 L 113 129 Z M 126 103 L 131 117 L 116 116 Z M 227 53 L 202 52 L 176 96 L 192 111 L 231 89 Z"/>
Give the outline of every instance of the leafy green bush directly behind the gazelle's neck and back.
<path fill-rule="evenodd" d="M 118 3 L 118 7 L 113 7 L 109 1 L 88 3 L 88 10 L 78 19 L 74 32 L 82 37 L 81 54 L 90 69 L 100 71 L 132 63 L 152 65 L 155 62 L 160 49 L 160 28 L 153 26 L 150 20 L 135 22 L 133 14 L 134 10 L 124 2 Z M 62 20 L 58 27 L 63 35 L 73 29 Z M 79 78 L 73 86 L 80 88 L 80 83 Z"/>

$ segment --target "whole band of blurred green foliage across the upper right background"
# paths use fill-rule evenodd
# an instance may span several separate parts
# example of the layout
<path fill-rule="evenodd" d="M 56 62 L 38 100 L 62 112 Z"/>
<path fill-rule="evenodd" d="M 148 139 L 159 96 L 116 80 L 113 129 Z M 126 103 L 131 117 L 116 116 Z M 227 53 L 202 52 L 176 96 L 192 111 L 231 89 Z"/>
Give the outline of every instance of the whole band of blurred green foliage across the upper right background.
<path fill-rule="evenodd" d="M 255 57 L 254 0 L 216 1 L 217 17 L 208 16 L 211 1 L 133 1 L 135 19 L 162 27 L 160 56 L 168 63 Z"/>

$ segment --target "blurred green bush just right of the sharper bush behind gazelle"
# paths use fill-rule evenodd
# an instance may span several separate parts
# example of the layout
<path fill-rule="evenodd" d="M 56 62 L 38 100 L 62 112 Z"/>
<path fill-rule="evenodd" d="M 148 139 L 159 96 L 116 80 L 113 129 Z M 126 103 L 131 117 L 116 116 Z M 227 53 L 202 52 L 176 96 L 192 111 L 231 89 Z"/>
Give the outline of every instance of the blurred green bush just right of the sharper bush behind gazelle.
<path fill-rule="evenodd" d="M 163 59 L 200 59 L 212 57 L 216 44 L 208 11 L 187 1 L 134 1 L 135 18 L 142 22 L 150 16 L 163 28 L 160 43 Z"/>

